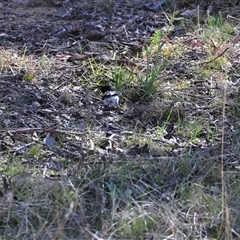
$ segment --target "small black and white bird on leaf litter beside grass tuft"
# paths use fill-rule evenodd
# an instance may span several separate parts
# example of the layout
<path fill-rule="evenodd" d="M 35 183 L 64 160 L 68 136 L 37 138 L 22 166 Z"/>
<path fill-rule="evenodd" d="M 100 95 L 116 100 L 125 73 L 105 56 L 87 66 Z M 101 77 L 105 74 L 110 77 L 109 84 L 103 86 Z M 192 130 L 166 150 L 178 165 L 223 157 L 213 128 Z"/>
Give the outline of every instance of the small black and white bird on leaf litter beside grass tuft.
<path fill-rule="evenodd" d="M 103 106 L 106 108 L 117 108 L 119 104 L 119 96 L 117 91 L 113 90 L 112 86 L 110 85 L 100 86 L 99 88 L 103 93 Z"/>

